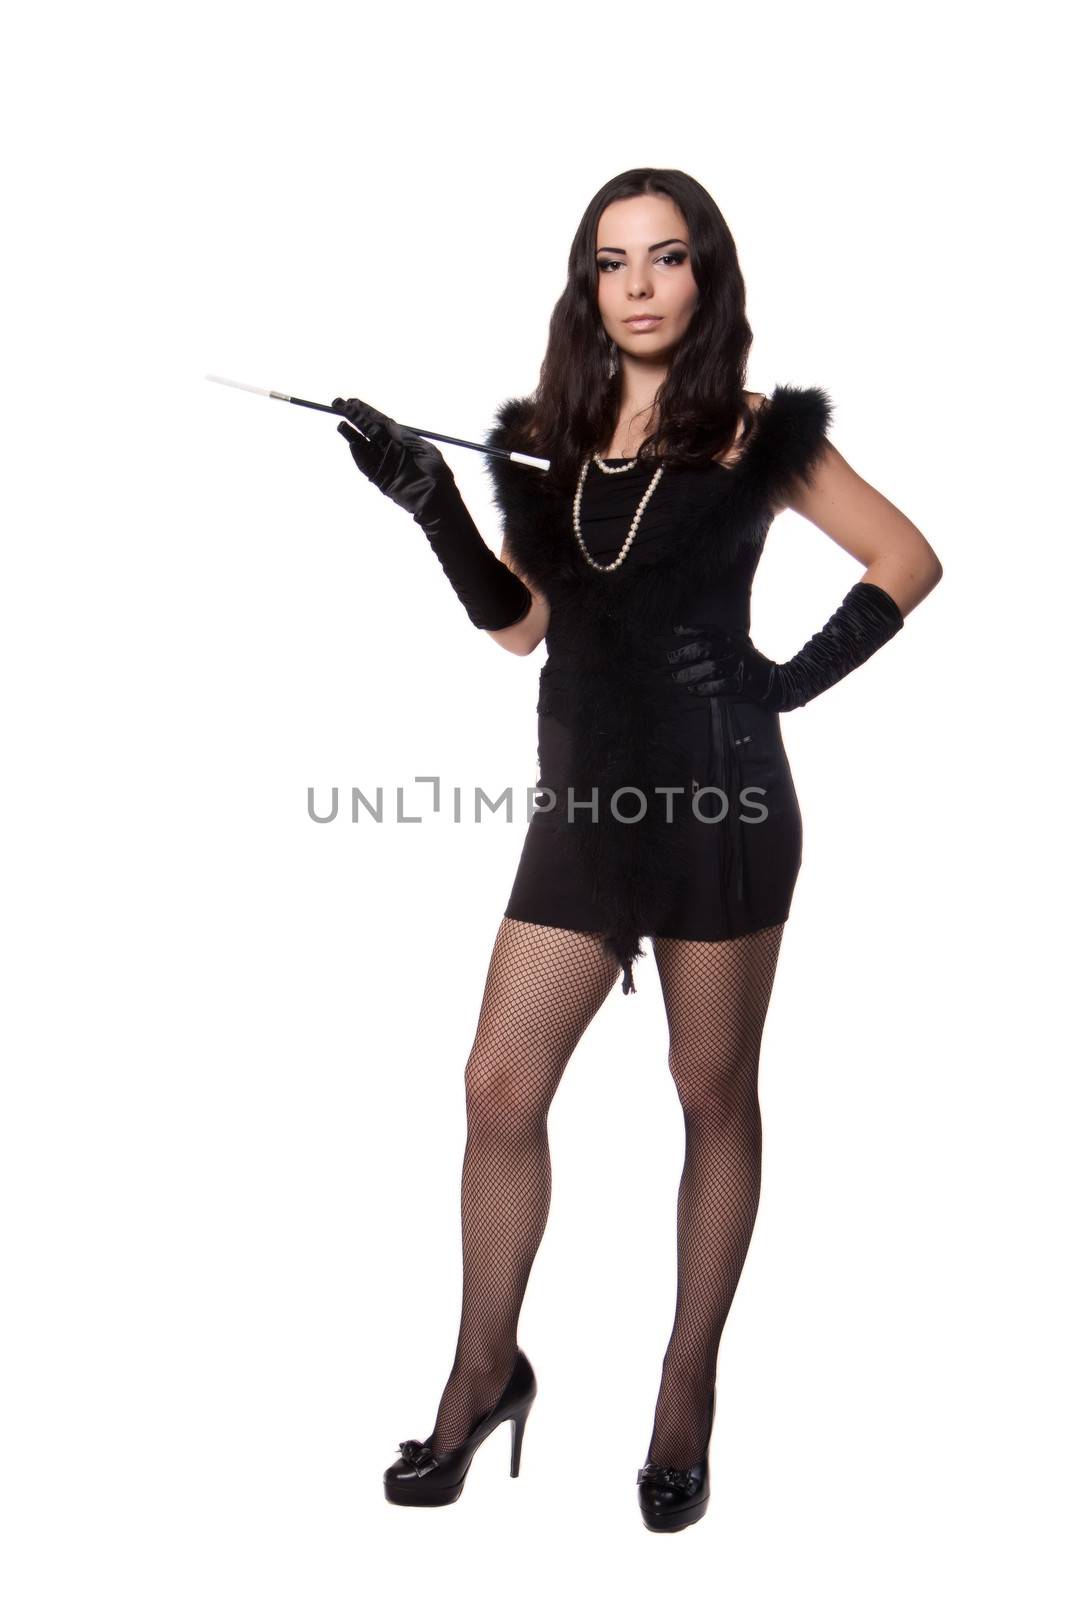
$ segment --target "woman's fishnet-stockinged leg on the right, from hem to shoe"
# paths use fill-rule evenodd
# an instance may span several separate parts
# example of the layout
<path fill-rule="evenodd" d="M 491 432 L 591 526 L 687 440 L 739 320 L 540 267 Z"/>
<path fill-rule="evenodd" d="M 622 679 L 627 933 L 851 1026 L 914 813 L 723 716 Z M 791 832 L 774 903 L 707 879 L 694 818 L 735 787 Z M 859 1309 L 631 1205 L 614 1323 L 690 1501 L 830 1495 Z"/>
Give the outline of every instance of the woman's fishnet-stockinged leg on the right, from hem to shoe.
<path fill-rule="evenodd" d="M 739 939 L 654 939 L 685 1115 L 678 1298 L 648 1459 L 701 1461 L 718 1341 L 760 1200 L 760 1043 L 784 923 Z"/>

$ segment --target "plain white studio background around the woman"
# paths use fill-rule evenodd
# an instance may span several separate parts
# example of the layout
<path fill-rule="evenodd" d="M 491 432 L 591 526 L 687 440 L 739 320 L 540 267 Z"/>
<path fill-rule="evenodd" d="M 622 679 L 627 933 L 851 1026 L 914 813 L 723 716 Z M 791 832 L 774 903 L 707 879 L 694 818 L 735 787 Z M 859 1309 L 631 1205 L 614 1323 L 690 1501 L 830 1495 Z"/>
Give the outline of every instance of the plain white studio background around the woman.
<path fill-rule="evenodd" d="M 1043 21 L 1048 19 L 1048 21 Z M 1037 5 L 45 6 L 3 50 L 3 1474 L 13 1597 L 1062 1592 L 1062 130 Z M 635 1475 L 681 1114 L 651 954 L 550 1117 L 541 1390 L 434 1514 L 381 1474 L 454 1350 L 462 1074 L 525 819 L 307 787 L 536 778 L 536 675 L 331 419 L 480 438 L 569 240 L 680 166 L 749 387 L 942 584 L 785 739 L 805 862 L 709 1515 Z M 499 547 L 482 459 L 451 450 Z M 859 568 L 774 525 L 753 637 Z"/>

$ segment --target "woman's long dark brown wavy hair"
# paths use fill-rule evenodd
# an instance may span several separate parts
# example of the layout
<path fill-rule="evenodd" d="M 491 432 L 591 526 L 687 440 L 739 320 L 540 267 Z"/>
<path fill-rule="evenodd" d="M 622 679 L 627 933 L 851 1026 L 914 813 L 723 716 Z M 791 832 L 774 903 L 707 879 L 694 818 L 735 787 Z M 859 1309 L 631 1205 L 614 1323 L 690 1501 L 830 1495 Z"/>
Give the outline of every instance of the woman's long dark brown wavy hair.
<path fill-rule="evenodd" d="M 633 166 L 611 178 L 589 202 L 566 264 L 566 288 L 549 323 L 549 346 L 523 427 L 531 454 L 549 458 L 547 482 L 573 486 L 582 459 L 608 450 L 622 400 L 621 366 L 611 371 L 614 341 L 598 306 L 597 226 L 614 200 L 665 195 L 689 230 L 689 258 L 699 298 L 689 325 L 659 386 L 656 430 L 641 440 L 640 458 L 675 466 L 704 466 L 752 427 L 744 379 L 752 347 L 745 286 L 737 246 L 707 189 L 672 166 Z"/>

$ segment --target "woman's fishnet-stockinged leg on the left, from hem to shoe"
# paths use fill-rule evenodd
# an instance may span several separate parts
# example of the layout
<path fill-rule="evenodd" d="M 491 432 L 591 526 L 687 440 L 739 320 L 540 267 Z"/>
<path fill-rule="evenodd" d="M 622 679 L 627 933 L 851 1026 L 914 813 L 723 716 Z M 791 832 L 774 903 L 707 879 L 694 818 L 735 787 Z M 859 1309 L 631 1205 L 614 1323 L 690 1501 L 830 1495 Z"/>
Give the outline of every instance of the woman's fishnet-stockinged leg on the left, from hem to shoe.
<path fill-rule="evenodd" d="M 619 963 L 595 934 L 506 917 L 467 1061 L 462 1317 L 427 1440 L 454 1450 L 504 1392 L 526 1280 L 549 1219 L 547 1117 L 563 1069 Z"/>

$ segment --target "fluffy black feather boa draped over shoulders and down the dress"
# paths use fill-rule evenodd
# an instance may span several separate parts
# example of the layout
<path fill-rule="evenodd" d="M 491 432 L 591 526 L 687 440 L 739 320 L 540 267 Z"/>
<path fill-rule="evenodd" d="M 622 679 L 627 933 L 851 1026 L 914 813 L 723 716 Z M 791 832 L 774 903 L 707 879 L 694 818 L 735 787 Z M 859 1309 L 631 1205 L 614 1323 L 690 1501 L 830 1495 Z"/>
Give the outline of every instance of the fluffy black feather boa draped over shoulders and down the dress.
<path fill-rule="evenodd" d="M 598 795 L 598 821 L 576 810 L 574 837 L 592 872 L 603 944 L 624 968 L 624 994 L 635 987 L 641 936 L 667 914 L 683 867 L 683 832 L 667 826 L 656 794 L 681 787 L 675 810 L 688 803 L 688 757 L 664 717 L 664 634 L 693 621 L 694 597 L 739 560 L 758 558 L 789 486 L 811 480 L 832 410 L 822 389 L 779 384 L 757 413 L 744 454 L 715 475 L 710 493 L 705 475 L 686 482 L 681 474 L 675 528 L 662 546 L 669 558 L 624 562 L 609 574 L 590 571 L 577 547 L 573 490 L 550 488 L 539 467 L 485 458 L 515 565 L 552 608 L 537 710 L 571 731 L 576 802 Z M 530 453 L 530 411 L 528 398 L 506 400 L 485 442 Z M 611 811 L 611 795 L 627 786 L 646 797 L 640 821 Z M 632 818 L 640 803 L 621 795 L 617 808 Z"/>

